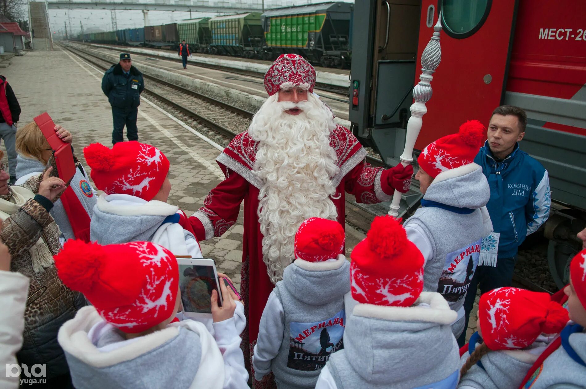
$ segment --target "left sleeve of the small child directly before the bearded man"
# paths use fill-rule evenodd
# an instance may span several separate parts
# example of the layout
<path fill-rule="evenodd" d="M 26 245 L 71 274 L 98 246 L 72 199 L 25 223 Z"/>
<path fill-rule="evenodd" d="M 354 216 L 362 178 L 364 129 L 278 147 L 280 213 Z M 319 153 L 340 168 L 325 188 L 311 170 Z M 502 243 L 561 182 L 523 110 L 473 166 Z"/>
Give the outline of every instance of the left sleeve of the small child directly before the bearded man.
<path fill-rule="evenodd" d="M 271 372 L 271 361 L 279 353 L 285 333 L 285 311 L 281 300 L 272 291 L 264 307 L 258 326 L 257 344 L 254 346 L 254 378 L 263 379 Z"/>

